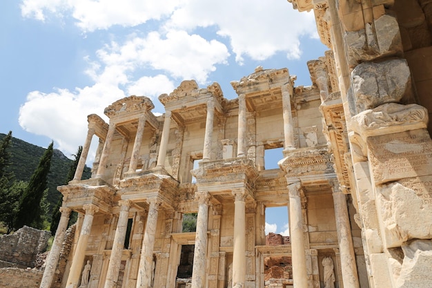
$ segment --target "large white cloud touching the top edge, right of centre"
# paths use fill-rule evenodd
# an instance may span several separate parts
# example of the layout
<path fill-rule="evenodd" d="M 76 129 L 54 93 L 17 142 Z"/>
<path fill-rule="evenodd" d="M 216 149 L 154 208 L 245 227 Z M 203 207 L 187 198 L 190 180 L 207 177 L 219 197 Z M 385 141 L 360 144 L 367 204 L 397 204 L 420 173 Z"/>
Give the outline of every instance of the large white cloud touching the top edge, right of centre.
<path fill-rule="evenodd" d="M 289 59 L 300 57 L 300 37 L 315 36 L 313 13 L 293 10 L 286 1 L 189 0 L 175 10 L 168 28 L 194 29 L 216 26 L 217 34 L 229 37 L 236 61 L 244 55 L 264 60 L 275 52 L 286 52 Z"/>

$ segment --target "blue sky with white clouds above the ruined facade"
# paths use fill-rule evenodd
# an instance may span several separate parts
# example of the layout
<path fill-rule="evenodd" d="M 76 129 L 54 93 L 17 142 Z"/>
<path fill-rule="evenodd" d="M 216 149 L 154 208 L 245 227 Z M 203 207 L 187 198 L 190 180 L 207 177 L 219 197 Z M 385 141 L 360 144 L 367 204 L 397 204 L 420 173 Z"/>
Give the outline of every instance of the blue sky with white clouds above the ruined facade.
<path fill-rule="evenodd" d="M 86 116 L 117 99 L 145 95 L 164 113 L 157 97 L 184 79 L 233 99 L 230 81 L 257 66 L 307 86 L 306 61 L 324 50 L 313 13 L 286 0 L 3 0 L 0 133 L 70 156 Z"/>

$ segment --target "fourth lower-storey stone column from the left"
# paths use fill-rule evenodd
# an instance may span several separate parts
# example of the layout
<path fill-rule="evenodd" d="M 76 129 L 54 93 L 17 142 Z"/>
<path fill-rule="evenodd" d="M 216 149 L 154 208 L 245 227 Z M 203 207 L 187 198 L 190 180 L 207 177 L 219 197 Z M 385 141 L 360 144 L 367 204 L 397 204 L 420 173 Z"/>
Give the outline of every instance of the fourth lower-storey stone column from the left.
<path fill-rule="evenodd" d="M 155 233 L 157 225 L 157 214 L 159 213 L 160 200 L 157 198 L 148 200 L 148 215 L 146 230 L 141 246 L 141 258 L 139 259 L 139 270 L 137 288 L 151 287 L 153 273 L 153 247 L 155 247 Z"/>

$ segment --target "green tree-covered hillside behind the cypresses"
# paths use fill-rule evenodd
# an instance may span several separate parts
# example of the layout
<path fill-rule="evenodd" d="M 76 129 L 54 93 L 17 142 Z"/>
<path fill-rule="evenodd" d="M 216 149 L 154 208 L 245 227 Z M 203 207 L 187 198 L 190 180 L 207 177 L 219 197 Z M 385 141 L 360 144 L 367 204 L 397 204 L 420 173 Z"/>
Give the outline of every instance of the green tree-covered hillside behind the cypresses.
<path fill-rule="evenodd" d="M 4 137 L 6 137 L 6 134 L 0 133 L 0 141 L 3 140 Z M 47 145 L 48 144 L 49 143 L 47 143 Z M 14 179 L 28 182 L 39 164 L 39 159 L 45 151 L 45 148 L 12 137 L 12 146 L 10 147 L 12 164 L 10 165 L 10 171 L 14 173 Z M 72 162 L 73 160 L 66 157 L 61 151 L 54 149 L 50 173 L 48 174 L 47 201 L 50 204 L 48 212 L 49 218 L 52 214 L 52 209 L 61 198 L 61 193 L 57 191 L 57 186 L 66 184 L 66 176 L 68 175 Z M 90 168 L 86 166 L 83 179 L 88 178 L 90 178 Z"/>

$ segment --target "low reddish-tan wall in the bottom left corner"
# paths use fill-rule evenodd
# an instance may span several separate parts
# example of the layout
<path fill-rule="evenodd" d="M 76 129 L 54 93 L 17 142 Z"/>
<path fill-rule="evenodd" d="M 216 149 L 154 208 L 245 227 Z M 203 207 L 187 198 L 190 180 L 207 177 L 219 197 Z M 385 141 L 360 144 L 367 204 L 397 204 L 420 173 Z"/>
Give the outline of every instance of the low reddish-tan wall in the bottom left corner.
<path fill-rule="evenodd" d="M 0 269 L 0 288 L 37 288 L 43 271 L 35 269 Z"/>

